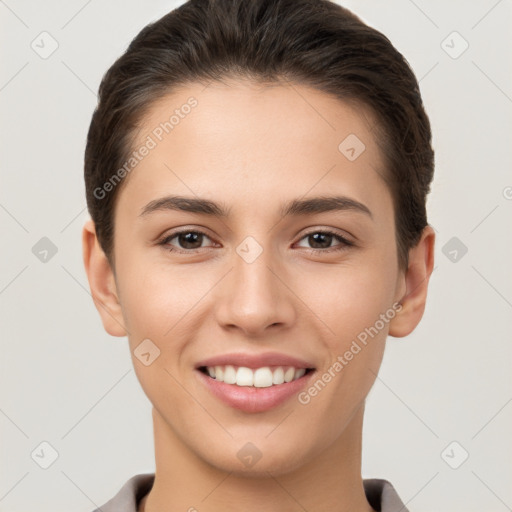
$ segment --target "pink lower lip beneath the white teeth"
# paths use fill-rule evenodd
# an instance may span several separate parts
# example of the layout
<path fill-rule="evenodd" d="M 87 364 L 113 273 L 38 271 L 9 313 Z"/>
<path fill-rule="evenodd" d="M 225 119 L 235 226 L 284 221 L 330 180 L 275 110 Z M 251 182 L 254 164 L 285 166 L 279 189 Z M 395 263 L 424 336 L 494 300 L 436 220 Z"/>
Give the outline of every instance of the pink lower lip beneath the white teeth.
<path fill-rule="evenodd" d="M 244 412 L 264 412 L 281 405 L 291 396 L 297 394 L 308 384 L 311 376 L 316 372 L 310 371 L 291 382 L 266 388 L 226 384 L 213 379 L 200 370 L 196 370 L 196 373 L 199 374 L 199 379 L 208 389 L 230 407 Z"/>

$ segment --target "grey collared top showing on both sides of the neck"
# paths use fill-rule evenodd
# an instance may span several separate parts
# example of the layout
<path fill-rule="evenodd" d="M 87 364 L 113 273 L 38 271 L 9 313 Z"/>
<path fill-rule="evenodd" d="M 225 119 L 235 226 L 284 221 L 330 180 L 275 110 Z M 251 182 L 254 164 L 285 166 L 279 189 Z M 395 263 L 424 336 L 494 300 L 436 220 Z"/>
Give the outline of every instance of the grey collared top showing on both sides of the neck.
<path fill-rule="evenodd" d="M 137 512 L 140 501 L 151 490 L 154 479 L 155 473 L 132 476 L 112 499 L 93 512 Z M 409 512 L 387 480 L 367 478 L 363 480 L 363 486 L 368 503 L 377 512 Z"/>

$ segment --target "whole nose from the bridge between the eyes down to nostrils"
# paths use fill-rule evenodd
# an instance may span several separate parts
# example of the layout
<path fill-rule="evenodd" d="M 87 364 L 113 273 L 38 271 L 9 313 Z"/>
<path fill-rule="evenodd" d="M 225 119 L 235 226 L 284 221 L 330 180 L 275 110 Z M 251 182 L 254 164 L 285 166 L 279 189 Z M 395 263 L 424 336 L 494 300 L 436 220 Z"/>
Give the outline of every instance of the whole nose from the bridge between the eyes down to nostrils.
<path fill-rule="evenodd" d="M 277 254 L 247 237 L 233 252 L 232 270 L 223 280 L 217 302 L 219 323 L 236 325 L 257 333 L 274 324 L 289 324 L 294 318 L 288 288 L 274 267 Z"/>

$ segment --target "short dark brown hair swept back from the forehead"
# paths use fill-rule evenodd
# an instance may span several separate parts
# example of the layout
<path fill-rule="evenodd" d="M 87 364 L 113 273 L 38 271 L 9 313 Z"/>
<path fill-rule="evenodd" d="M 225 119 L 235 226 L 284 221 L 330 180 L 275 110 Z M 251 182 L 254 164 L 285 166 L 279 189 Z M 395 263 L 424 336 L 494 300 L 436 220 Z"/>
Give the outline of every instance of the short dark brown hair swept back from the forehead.
<path fill-rule="evenodd" d="M 189 0 L 147 25 L 105 73 L 84 176 L 87 207 L 111 266 L 114 206 L 127 178 L 108 193 L 97 191 L 133 151 L 144 114 L 178 86 L 227 77 L 290 81 L 370 107 L 393 197 L 398 263 L 407 268 L 408 251 L 427 226 L 434 173 L 429 119 L 402 54 L 328 0 Z"/>

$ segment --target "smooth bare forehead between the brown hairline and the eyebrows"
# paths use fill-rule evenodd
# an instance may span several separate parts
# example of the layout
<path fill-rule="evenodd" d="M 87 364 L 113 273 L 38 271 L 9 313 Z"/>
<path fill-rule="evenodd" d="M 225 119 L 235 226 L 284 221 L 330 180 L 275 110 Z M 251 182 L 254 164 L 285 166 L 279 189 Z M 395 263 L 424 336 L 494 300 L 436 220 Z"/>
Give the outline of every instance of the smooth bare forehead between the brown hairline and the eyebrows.
<path fill-rule="evenodd" d="M 140 207 L 172 191 L 267 208 L 341 187 L 372 202 L 384 187 L 375 129 L 368 108 L 299 84 L 188 84 L 148 109 L 134 149 L 151 149 L 121 195 Z"/>

